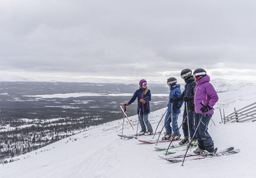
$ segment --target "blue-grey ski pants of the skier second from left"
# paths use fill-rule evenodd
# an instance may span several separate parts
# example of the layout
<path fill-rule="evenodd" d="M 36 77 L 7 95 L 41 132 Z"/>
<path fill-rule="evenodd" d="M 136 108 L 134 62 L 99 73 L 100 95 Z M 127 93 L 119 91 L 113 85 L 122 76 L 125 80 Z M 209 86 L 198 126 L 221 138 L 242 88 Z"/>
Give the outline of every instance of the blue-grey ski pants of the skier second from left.
<path fill-rule="evenodd" d="M 164 119 L 164 127 L 166 128 L 166 134 L 171 135 L 171 121 L 173 122 L 173 134 L 180 135 L 178 126 L 178 116 L 179 113 L 172 114 L 170 112 L 166 113 L 166 119 Z"/>

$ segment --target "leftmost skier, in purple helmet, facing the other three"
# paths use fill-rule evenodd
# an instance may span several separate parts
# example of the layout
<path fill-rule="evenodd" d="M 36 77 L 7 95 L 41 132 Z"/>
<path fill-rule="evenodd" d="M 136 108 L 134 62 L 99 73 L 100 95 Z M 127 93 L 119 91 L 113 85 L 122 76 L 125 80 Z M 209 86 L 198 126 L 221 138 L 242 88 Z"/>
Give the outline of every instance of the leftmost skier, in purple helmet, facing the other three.
<path fill-rule="evenodd" d="M 138 135 L 153 134 L 151 123 L 148 120 L 148 114 L 150 113 L 149 101 L 151 101 L 151 91 L 148 89 L 146 80 L 139 81 L 139 89 L 135 91 L 133 97 L 128 103 L 124 103 L 123 106 L 129 106 L 133 101 L 138 98 L 137 113 L 139 115 L 139 123 L 141 125 L 141 132 Z"/>

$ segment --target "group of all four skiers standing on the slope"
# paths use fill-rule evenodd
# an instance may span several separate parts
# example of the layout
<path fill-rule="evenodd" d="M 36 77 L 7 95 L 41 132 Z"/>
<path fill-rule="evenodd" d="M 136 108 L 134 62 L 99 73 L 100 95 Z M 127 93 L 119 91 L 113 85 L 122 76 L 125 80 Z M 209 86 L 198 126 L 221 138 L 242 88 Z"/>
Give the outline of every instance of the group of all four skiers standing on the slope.
<path fill-rule="evenodd" d="M 202 156 L 214 155 L 214 143 L 208 133 L 208 123 L 213 116 L 213 106 L 218 101 L 218 95 L 207 72 L 198 68 L 195 71 L 183 69 L 180 77 L 185 81 L 185 90 L 180 90 L 175 77 L 167 80 L 170 88 L 168 109 L 164 120 L 166 134 L 163 139 L 180 139 L 180 131 L 177 123 L 180 114 L 180 107 L 185 103 L 183 112 L 182 129 L 184 138 L 179 142 L 180 145 L 190 143 L 191 146 L 198 145 L 194 150 L 195 154 Z M 135 91 L 133 97 L 123 106 L 129 106 L 138 98 L 138 115 L 141 125 L 141 132 L 138 135 L 151 135 L 153 129 L 148 120 L 150 112 L 149 101 L 151 101 L 151 91 L 147 87 L 146 80 L 139 81 L 139 89 Z M 172 125 L 172 126 L 171 126 Z"/>

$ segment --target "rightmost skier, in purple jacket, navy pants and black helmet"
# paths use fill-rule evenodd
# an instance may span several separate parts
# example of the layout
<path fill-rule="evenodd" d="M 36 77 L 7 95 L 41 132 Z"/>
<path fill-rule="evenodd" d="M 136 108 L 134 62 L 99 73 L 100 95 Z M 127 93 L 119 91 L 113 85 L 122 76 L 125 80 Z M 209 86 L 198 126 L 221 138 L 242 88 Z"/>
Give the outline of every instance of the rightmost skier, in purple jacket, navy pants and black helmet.
<path fill-rule="evenodd" d="M 198 68 L 193 71 L 196 80 L 194 89 L 194 105 L 195 105 L 195 128 L 196 137 L 198 139 L 198 148 L 193 151 L 204 157 L 216 154 L 213 139 L 208 133 L 208 124 L 213 116 L 213 106 L 218 101 L 218 95 L 213 85 L 210 84 L 210 77 L 204 69 Z M 202 118 L 202 119 L 201 119 Z M 201 122 L 199 123 L 199 120 Z"/>

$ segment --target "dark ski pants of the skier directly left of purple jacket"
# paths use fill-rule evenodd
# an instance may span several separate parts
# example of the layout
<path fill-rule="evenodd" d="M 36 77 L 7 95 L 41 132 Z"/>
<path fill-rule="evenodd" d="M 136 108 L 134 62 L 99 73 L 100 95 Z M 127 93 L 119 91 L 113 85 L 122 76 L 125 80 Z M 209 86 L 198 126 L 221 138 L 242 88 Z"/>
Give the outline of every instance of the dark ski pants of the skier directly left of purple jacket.
<path fill-rule="evenodd" d="M 192 136 L 195 134 L 194 116 L 195 116 L 194 110 L 189 110 L 188 116 L 187 116 L 187 110 L 185 108 L 183 113 L 183 120 L 185 119 L 186 120 L 185 122 L 183 122 L 183 125 L 182 125 L 183 134 L 184 134 L 184 138 L 189 138 L 189 135 L 190 135 L 192 141 L 196 141 L 196 135 L 192 138 Z"/>

